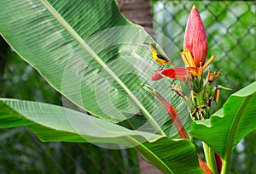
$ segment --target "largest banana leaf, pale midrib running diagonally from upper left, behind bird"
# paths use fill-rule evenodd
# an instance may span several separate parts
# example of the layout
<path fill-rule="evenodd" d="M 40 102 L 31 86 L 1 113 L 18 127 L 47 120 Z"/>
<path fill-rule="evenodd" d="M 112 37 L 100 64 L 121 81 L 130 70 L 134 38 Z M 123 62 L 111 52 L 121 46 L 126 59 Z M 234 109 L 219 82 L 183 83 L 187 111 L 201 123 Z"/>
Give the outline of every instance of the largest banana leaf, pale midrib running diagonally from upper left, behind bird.
<path fill-rule="evenodd" d="M 138 130 L 168 134 L 166 109 L 142 84 L 174 107 L 181 99 L 170 93 L 172 81 L 150 81 L 158 65 L 143 42 L 152 39 L 115 1 L 2 0 L 0 8 L 1 35 L 73 104 L 113 122 L 142 113 L 147 122 Z M 186 112 L 179 116 L 188 122 Z"/>

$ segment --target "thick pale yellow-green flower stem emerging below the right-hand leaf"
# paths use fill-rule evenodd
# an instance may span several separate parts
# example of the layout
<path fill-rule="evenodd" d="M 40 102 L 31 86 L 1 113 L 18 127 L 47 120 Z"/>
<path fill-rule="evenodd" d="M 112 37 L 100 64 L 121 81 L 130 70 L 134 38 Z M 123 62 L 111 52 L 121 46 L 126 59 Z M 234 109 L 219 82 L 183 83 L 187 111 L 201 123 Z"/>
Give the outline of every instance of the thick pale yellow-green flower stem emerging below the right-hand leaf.
<path fill-rule="evenodd" d="M 216 164 L 214 151 L 206 143 L 203 142 L 203 148 L 207 160 L 207 165 L 212 171 L 212 174 L 218 174 L 218 166 Z"/>

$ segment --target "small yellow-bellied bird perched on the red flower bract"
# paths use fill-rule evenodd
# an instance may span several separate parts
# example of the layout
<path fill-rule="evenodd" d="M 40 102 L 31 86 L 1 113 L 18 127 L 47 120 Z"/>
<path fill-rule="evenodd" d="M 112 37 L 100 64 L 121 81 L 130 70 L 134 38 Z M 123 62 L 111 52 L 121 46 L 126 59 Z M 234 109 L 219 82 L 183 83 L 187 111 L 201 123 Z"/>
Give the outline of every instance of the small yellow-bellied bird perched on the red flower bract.
<path fill-rule="evenodd" d="M 148 43 L 148 42 L 143 42 L 143 43 L 148 45 L 151 48 L 152 57 L 154 61 L 160 64 L 160 67 L 158 68 L 158 70 L 162 70 L 165 65 L 174 66 L 170 59 L 168 59 L 164 54 L 160 53 L 158 48 L 156 48 L 155 43 Z"/>

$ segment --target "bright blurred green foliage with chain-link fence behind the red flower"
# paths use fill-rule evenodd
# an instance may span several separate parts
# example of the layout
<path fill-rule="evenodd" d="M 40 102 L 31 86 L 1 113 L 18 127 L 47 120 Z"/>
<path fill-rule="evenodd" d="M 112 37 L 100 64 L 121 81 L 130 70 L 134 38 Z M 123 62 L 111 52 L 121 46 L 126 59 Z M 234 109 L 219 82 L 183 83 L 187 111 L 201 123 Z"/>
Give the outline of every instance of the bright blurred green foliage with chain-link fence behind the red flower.
<path fill-rule="evenodd" d="M 232 91 L 221 91 L 218 104 L 213 104 L 215 110 L 222 107 L 231 93 L 256 81 L 255 2 L 154 0 L 152 4 L 154 30 L 170 38 L 180 50 L 183 50 L 185 26 L 194 4 L 201 14 L 207 31 L 207 58 L 216 55 L 210 68 L 222 70 L 215 84 L 232 88 Z M 234 150 L 231 173 L 255 173 L 255 144 L 256 132 L 241 141 Z"/>

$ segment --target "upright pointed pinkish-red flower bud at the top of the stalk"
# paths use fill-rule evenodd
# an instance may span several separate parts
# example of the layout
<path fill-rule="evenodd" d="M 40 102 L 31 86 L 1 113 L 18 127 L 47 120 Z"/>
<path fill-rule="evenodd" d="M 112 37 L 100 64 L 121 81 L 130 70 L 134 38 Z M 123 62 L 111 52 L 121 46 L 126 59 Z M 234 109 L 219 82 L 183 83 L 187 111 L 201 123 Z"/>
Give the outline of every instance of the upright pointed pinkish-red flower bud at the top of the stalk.
<path fill-rule="evenodd" d="M 183 50 L 190 51 L 197 68 L 205 64 L 208 50 L 207 34 L 200 14 L 195 6 L 193 6 L 189 14 L 184 35 Z"/>

